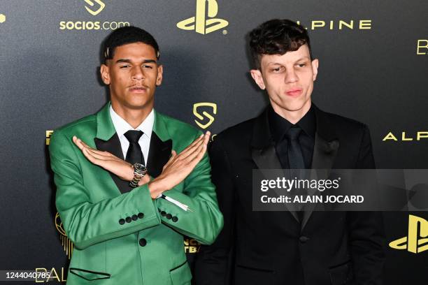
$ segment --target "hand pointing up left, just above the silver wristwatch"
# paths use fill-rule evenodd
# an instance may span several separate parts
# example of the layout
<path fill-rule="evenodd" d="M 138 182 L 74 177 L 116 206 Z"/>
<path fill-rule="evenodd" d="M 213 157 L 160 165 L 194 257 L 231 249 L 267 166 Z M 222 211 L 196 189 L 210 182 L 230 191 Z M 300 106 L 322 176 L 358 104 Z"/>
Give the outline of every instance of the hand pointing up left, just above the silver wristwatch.
<path fill-rule="evenodd" d="M 73 136 L 73 142 L 82 151 L 87 160 L 91 161 L 95 165 L 101 166 L 110 173 L 117 175 L 117 177 L 119 177 L 121 180 L 131 181 L 134 178 L 134 168 L 132 167 L 131 163 L 128 163 L 127 161 L 110 154 L 110 152 L 102 152 L 101 150 L 93 149 L 76 136 Z M 147 179 L 150 180 L 149 175 L 145 176 L 147 176 Z"/>

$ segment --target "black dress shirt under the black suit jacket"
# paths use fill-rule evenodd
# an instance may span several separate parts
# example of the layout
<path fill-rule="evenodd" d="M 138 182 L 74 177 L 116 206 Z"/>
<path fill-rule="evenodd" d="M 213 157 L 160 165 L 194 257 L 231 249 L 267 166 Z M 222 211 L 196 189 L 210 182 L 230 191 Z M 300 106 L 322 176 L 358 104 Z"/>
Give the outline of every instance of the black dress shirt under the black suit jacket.
<path fill-rule="evenodd" d="M 308 112 L 306 112 L 304 117 L 302 117 L 295 125 L 278 115 L 273 110 L 272 106 L 269 108 L 268 119 L 277 154 L 278 145 L 280 145 L 282 149 L 287 149 L 288 147 L 288 141 L 285 137 L 285 133 L 287 133 L 288 129 L 292 128 L 293 126 L 299 126 L 303 130 L 299 136 L 299 145 L 304 156 L 305 168 L 311 168 L 313 146 L 315 145 L 315 131 L 317 129 L 317 120 L 315 117 L 315 111 L 313 110 L 313 105 L 311 105 L 311 108 L 308 110 Z M 290 168 L 287 152 L 281 156 L 278 156 L 278 159 L 280 160 L 281 166 L 283 166 L 284 169 Z"/>

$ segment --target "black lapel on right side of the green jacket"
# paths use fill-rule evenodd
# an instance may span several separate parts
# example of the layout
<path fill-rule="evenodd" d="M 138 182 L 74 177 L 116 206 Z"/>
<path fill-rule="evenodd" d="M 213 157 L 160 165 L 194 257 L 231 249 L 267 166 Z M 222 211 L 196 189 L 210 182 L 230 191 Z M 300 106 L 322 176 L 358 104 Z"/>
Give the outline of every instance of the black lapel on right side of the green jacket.
<path fill-rule="evenodd" d="M 162 141 L 153 131 L 150 138 L 150 148 L 148 157 L 148 173 L 152 177 L 157 177 L 162 173 L 162 168 L 171 157 L 172 140 Z"/>

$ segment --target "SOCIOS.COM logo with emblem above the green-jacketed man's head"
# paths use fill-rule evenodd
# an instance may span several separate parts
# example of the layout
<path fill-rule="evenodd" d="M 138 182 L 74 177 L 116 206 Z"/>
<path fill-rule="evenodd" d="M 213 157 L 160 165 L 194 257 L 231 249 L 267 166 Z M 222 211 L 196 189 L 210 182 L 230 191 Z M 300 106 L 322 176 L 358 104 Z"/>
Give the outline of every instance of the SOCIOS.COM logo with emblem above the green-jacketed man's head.
<path fill-rule="evenodd" d="M 99 15 L 102 10 L 106 7 L 106 4 L 101 0 L 84 0 L 87 5 L 85 9 L 92 16 Z M 87 30 L 114 30 L 120 27 L 129 27 L 131 24 L 124 21 L 91 21 L 91 20 L 63 20 L 59 21 L 59 29 L 62 31 L 76 30 L 76 31 L 87 31 Z"/>

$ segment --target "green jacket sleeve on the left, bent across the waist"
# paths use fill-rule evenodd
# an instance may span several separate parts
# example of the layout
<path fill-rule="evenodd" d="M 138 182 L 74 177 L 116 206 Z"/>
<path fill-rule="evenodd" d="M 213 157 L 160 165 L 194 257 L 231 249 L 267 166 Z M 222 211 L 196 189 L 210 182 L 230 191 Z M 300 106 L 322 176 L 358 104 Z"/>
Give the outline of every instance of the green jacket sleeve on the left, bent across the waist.
<path fill-rule="evenodd" d="M 147 184 L 115 198 L 92 201 L 83 182 L 78 148 L 61 131 L 50 140 L 50 165 L 57 186 L 55 203 L 68 238 L 78 249 L 160 224 Z"/>

